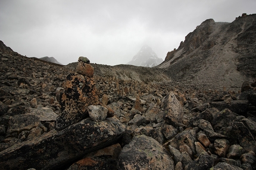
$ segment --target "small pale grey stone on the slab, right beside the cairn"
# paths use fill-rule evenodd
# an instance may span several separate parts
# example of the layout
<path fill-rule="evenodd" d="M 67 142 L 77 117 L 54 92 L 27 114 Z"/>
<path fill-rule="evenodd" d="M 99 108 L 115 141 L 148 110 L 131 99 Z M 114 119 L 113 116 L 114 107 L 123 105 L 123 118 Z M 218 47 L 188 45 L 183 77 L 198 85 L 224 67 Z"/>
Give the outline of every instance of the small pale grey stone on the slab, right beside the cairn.
<path fill-rule="evenodd" d="M 99 122 L 107 118 L 108 109 L 101 105 L 89 105 L 88 113 L 93 121 Z"/>

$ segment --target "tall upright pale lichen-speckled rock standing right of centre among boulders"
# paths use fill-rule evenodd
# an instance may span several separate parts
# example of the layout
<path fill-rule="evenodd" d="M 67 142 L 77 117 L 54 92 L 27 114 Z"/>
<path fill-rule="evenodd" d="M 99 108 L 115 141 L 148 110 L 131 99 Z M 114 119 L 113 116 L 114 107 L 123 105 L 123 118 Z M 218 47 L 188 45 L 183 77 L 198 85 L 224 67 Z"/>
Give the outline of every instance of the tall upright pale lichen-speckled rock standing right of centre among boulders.
<path fill-rule="evenodd" d="M 173 126 L 182 123 L 183 108 L 179 100 L 177 100 L 174 92 L 170 92 L 163 101 L 164 120 Z"/>

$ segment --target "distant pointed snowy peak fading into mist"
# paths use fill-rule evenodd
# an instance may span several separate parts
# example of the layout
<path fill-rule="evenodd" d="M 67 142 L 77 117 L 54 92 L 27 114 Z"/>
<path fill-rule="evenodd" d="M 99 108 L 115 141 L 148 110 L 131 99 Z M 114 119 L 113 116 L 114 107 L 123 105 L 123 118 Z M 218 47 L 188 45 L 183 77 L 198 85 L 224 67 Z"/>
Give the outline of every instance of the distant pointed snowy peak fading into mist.
<path fill-rule="evenodd" d="M 127 65 L 152 68 L 159 65 L 161 62 L 163 62 L 163 59 L 158 58 L 151 47 L 144 45 Z"/>

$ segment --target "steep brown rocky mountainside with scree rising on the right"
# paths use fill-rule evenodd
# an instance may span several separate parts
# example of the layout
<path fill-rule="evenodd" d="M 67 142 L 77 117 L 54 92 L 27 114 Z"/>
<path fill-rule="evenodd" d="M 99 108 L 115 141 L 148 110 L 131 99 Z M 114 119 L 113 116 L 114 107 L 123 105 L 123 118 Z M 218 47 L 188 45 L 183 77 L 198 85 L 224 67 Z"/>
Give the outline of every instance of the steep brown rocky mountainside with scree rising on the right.
<path fill-rule="evenodd" d="M 204 21 L 167 53 L 158 68 L 166 68 L 174 82 L 207 88 L 238 88 L 256 75 L 256 15 L 232 23 Z"/>

